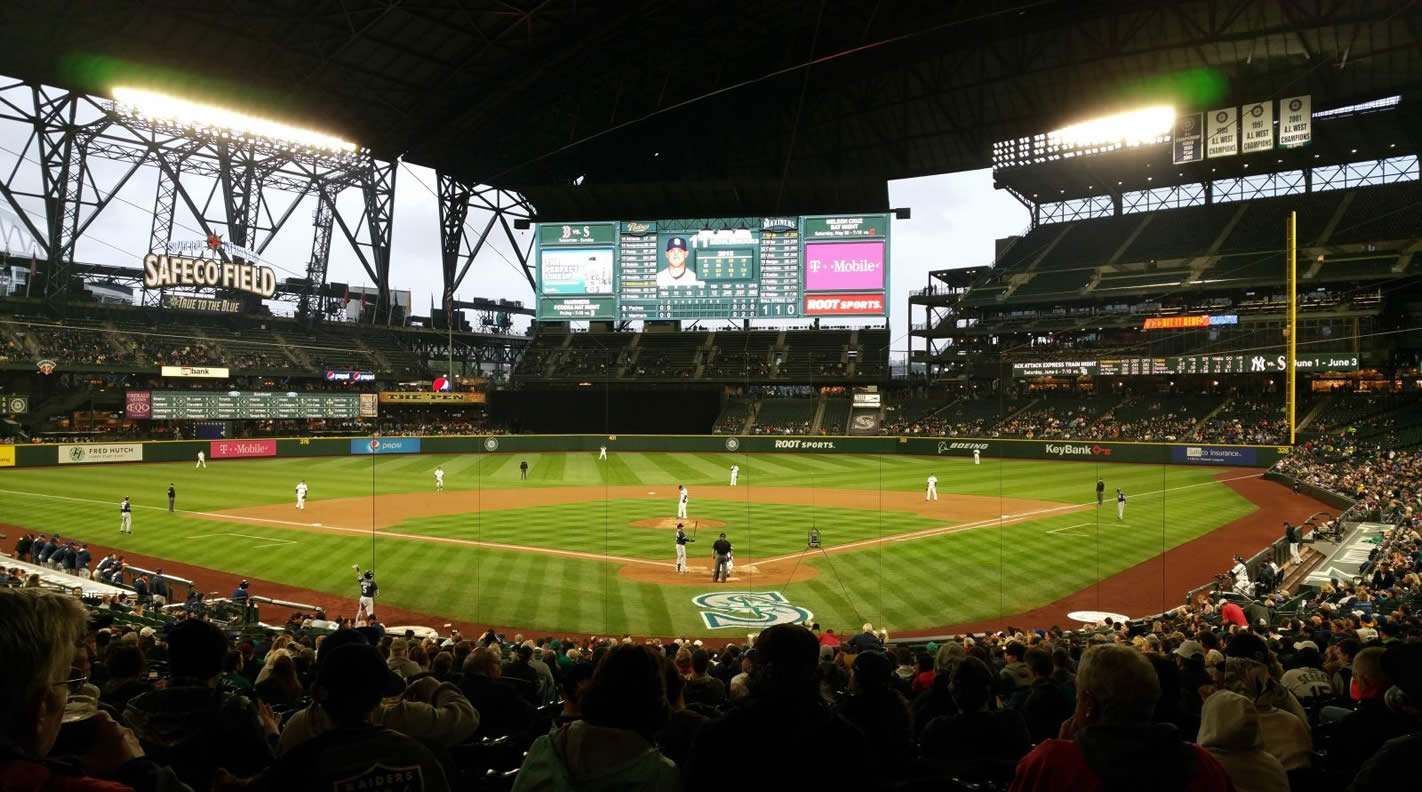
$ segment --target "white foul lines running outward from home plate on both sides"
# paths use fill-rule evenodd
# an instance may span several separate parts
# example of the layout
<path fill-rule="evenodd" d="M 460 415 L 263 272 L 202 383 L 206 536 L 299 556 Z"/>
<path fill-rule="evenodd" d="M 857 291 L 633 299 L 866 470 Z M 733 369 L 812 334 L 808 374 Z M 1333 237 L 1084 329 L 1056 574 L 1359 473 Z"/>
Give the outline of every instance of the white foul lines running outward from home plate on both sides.
<path fill-rule="evenodd" d="M 1182 485 L 1182 486 L 1172 486 L 1172 488 L 1167 488 L 1167 489 L 1152 489 L 1149 492 L 1136 493 L 1132 498 L 1148 498 L 1148 496 L 1152 496 L 1152 495 L 1163 495 L 1166 492 L 1177 492 L 1177 491 L 1182 491 L 1182 489 L 1194 489 L 1197 486 L 1207 486 L 1207 485 L 1213 485 L 1213 483 L 1224 483 L 1224 482 L 1231 482 L 1231 481 L 1253 479 L 1253 478 L 1260 478 L 1261 475 L 1264 475 L 1264 473 L 1249 473 L 1249 475 L 1243 475 L 1243 476 L 1231 476 L 1231 478 L 1224 478 L 1224 479 L 1210 479 L 1210 481 L 1202 481 L 1202 482 L 1196 482 L 1196 483 L 1186 483 L 1186 485 Z M 0 493 L 21 495 L 21 496 L 28 496 L 28 498 L 48 498 L 48 499 L 54 499 L 54 501 L 73 501 L 73 502 L 77 502 L 77 503 L 105 503 L 105 505 L 114 505 L 111 501 L 100 501 L 97 498 L 74 498 L 71 495 L 50 495 L 50 493 L 46 493 L 46 492 L 23 492 L 23 491 L 17 491 L 17 489 L 0 489 Z M 1049 515 L 1052 512 L 1062 512 L 1062 510 L 1068 510 L 1068 509 L 1072 509 L 1072 510 L 1075 510 L 1075 509 L 1085 509 L 1085 508 L 1089 508 L 1089 506 L 1096 506 L 1096 502 L 1095 501 L 1088 501 L 1085 503 L 1062 503 L 1061 506 L 1051 506 L 1051 508 L 1045 508 L 1045 509 L 1034 509 L 1031 512 L 1022 512 L 1021 515 L 1005 515 L 1004 518 L 998 518 L 998 519 L 985 519 L 985 520 L 968 522 L 968 523 L 961 523 L 961 525 L 948 525 L 948 526 L 941 526 L 941 528 L 929 528 L 929 529 L 924 529 L 924 530 L 914 530 L 914 532 L 903 533 L 903 535 L 897 535 L 897 536 L 877 536 L 877 537 L 873 537 L 873 539 L 860 539 L 857 542 L 848 542 L 845 545 L 833 545 L 830 547 L 825 547 L 823 552 L 826 552 L 826 553 L 843 553 L 843 552 L 855 550 L 855 549 L 859 549 L 859 547 L 869 547 L 869 546 L 873 546 L 873 545 L 882 545 L 884 542 L 909 542 L 909 540 L 913 540 L 913 539 L 929 539 L 929 537 L 933 537 L 933 536 L 946 536 L 948 533 L 958 533 L 961 530 L 973 530 L 975 528 L 983 528 L 983 526 L 988 526 L 988 525 L 1012 525 L 1012 523 L 1020 523 L 1020 522 L 1024 522 L 1024 520 L 1030 520 L 1030 519 L 1041 516 L 1041 515 Z M 134 508 L 135 509 L 149 509 L 149 510 L 155 510 L 155 512 L 165 512 L 166 510 L 162 506 L 139 506 L 139 505 L 135 505 Z M 279 520 L 279 519 L 272 519 L 272 518 L 249 518 L 249 516 L 242 516 L 242 515 L 225 515 L 225 513 L 220 513 L 220 512 L 198 512 L 198 510 L 192 510 L 192 509 L 176 509 L 176 512 L 178 513 L 183 513 L 183 515 L 196 515 L 199 518 L 209 518 L 209 519 L 219 519 L 219 520 L 246 520 L 246 522 L 257 522 L 257 523 L 269 523 L 269 525 L 283 525 L 283 526 L 297 528 L 297 529 L 301 529 L 301 530 L 337 532 L 337 533 L 358 533 L 358 535 L 363 535 L 363 536 L 364 535 L 370 535 L 370 533 L 378 533 L 380 536 L 388 536 L 391 539 L 408 539 L 408 540 L 415 540 L 415 542 L 438 542 L 438 543 L 442 543 L 442 545 L 459 545 L 459 546 L 465 546 L 465 547 L 486 547 L 486 549 L 492 549 L 492 550 L 515 550 L 515 552 L 520 552 L 520 553 L 542 553 L 542 555 L 546 555 L 546 556 L 559 556 L 559 557 L 566 557 L 566 559 L 587 559 L 587 560 L 599 560 L 599 562 L 636 563 L 636 564 L 643 564 L 643 566 L 660 566 L 660 567 L 667 567 L 667 569 L 674 569 L 677 566 L 675 562 L 654 562 L 654 560 L 650 560 L 650 559 L 634 559 L 634 557 L 630 557 L 630 556 L 609 556 L 609 555 L 604 555 L 604 553 L 584 553 L 584 552 L 580 552 L 580 550 L 559 550 L 559 549 L 555 549 L 555 547 L 532 547 L 532 546 L 528 546 L 528 545 L 506 545 L 506 543 L 502 543 L 502 542 L 481 542 L 481 540 L 474 540 L 474 539 L 452 539 L 452 537 L 448 537 L 448 536 L 428 536 L 428 535 L 422 535 L 422 533 L 401 533 L 401 532 L 395 532 L 395 530 L 371 530 L 371 529 L 367 529 L 367 528 L 341 528 L 341 526 L 337 526 L 337 525 L 316 526 L 316 525 L 309 523 L 309 522 Z M 1084 525 L 1091 525 L 1091 523 L 1084 523 Z M 267 539 L 267 537 L 263 537 L 263 539 Z M 287 540 L 283 540 L 283 542 L 287 542 Z M 747 563 L 771 564 L 771 563 L 778 563 L 778 562 L 784 562 L 784 560 L 798 559 L 802 555 L 803 555 L 803 552 L 795 552 L 795 553 L 786 553 L 784 556 L 775 556 L 772 559 L 747 559 Z"/>

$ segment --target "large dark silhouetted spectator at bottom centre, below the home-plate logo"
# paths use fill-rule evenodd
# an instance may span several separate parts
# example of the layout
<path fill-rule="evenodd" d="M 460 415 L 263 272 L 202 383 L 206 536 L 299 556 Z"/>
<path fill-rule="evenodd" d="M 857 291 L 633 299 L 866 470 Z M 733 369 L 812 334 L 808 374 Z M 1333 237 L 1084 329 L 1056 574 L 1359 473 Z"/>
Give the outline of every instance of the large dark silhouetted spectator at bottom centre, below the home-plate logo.
<path fill-rule="evenodd" d="M 786 756 L 833 756 L 838 774 L 863 776 L 865 738 L 820 697 L 816 646 L 798 624 L 776 624 L 755 637 L 749 695 L 701 729 L 685 772 L 691 789 L 721 789 L 731 756 L 741 778 L 781 778 Z"/>

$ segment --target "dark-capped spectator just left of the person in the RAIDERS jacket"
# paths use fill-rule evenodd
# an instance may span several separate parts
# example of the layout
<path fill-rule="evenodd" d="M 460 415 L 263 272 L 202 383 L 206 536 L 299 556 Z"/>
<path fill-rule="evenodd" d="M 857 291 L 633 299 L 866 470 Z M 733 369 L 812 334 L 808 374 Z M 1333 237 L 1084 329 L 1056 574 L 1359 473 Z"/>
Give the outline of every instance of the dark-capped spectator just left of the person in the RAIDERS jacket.
<path fill-rule="evenodd" d="M 131 700 L 124 710 L 144 749 L 193 789 L 212 786 L 218 768 L 246 776 L 272 761 L 277 734 L 272 710 L 218 688 L 228 650 L 228 637 L 212 623 L 181 621 L 168 631 L 168 687 Z"/>

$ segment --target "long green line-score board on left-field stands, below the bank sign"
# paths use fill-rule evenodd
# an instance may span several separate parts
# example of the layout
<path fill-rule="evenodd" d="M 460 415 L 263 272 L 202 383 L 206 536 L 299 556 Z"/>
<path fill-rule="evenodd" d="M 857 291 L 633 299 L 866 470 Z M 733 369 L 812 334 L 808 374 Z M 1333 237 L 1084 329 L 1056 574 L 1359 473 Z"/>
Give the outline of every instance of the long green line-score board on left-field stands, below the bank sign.
<path fill-rule="evenodd" d="M 148 418 L 154 421 L 361 418 L 373 415 L 373 404 L 363 405 L 367 401 L 374 402 L 375 394 L 152 391 Z"/>

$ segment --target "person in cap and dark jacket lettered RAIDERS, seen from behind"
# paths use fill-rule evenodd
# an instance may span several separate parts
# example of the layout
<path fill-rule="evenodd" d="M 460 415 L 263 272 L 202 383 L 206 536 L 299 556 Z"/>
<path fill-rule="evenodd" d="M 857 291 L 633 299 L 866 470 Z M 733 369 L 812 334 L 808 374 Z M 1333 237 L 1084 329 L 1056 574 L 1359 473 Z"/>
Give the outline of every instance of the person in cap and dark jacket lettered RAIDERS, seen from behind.
<path fill-rule="evenodd" d="M 336 640 L 336 646 L 331 641 Z M 284 752 L 253 781 L 264 789 L 445 792 L 439 761 L 419 741 L 374 722 L 405 683 L 353 630 L 333 633 L 316 660 L 313 694 L 333 728 Z M 398 781 L 398 783 L 395 782 Z"/>

